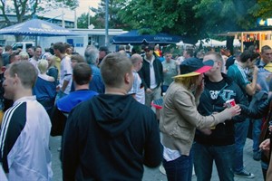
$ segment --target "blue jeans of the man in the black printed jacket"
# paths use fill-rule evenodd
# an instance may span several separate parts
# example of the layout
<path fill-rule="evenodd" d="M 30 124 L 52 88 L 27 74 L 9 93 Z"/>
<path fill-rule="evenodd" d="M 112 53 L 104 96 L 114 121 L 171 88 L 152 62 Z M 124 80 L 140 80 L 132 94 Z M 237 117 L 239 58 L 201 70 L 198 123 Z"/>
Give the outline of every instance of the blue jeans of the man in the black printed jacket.
<path fill-rule="evenodd" d="M 194 167 L 198 181 L 211 179 L 213 161 L 217 166 L 220 181 L 234 181 L 233 161 L 235 145 L 206 146 L 199 143 L 193 145 Z"/>

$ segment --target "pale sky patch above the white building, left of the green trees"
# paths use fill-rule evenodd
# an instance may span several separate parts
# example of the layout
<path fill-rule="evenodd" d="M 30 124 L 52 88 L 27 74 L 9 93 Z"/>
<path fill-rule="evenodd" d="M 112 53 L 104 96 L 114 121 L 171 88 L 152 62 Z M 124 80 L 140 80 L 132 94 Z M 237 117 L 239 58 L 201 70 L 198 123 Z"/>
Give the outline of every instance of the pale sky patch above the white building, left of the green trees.
<path fill-rule="evenodd" d="M 79 0 L 79 7 L 76 8 L 76 15 L 79 17 L 83 13 L 88 13 L 89 7 L 97 8 L 98 4 L 101 2 L 101 0 Z M 64 15 L 64 19 L 68 20 L 74 20 L 74 11 L 71 11 L 69 9 L 56 9 L 51 12 L 46 13 L 46 15 L 50 17 L 56 17 L 62 18 L 62 12 Z M 90 11 L 92 14 L 92 11 Z M 93 15 L 93 14 L 92 14 Z"/>

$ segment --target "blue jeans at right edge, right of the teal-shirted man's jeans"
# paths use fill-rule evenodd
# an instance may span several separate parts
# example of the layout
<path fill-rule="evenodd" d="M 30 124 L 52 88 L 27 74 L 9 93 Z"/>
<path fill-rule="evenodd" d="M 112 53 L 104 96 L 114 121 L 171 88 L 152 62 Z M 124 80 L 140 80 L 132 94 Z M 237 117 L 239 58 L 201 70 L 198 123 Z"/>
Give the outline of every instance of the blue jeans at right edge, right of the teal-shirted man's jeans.
<path fill-rule="evenodd" d="M 257 152 L 259 150 L 259 135 L 261 132 L 263 119 L 253 119 L 252 120 L 252 139 L 253 139 L 253 152 Z"/>

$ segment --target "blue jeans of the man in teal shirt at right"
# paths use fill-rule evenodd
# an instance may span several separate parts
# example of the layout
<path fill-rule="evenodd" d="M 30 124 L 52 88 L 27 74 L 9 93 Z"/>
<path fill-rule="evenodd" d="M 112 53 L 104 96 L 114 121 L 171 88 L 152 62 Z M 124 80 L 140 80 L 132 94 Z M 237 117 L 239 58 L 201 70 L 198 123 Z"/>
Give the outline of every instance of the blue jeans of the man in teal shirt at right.
<path fill-rule="evenodd" d="M 243 151 L 248 136 L 249 119 L 243 122 L 235 123 L 235 160 L 234 160 L 234 172 L 239 173 L 243 171 Z"/>

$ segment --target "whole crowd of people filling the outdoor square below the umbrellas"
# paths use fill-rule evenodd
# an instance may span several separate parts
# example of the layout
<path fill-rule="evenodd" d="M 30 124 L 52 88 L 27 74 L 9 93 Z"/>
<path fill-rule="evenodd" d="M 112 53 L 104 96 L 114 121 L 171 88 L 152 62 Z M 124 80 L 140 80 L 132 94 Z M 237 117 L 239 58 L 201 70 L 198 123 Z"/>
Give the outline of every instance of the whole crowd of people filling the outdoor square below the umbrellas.
<path fill-rule="evenodd" d="M 191 180 L 193 167 L 207 181 L 213 163 L 219 180 L 254 178 L 243 160 L 250 122 L 253 159 L 272 175 L 267 45 L 234 55 L 187 48 L 177 58 L 160 45 L 3 49 L 1 180 L 52 180 L 50 136 L 62 136 L 63 180 L 141 180 L 143 165 L 162 164 L 169 181 Z"/>

